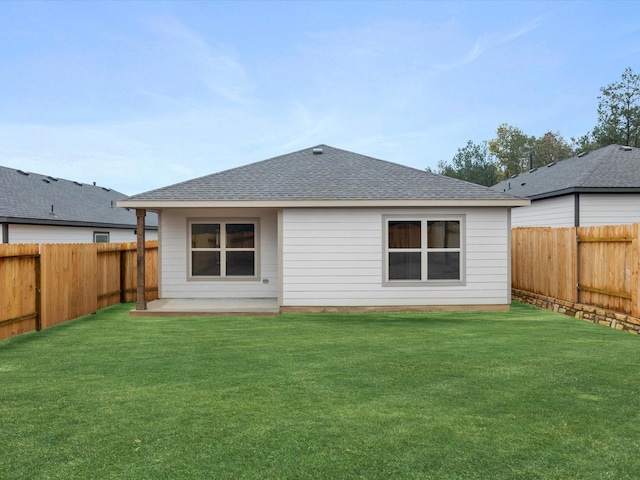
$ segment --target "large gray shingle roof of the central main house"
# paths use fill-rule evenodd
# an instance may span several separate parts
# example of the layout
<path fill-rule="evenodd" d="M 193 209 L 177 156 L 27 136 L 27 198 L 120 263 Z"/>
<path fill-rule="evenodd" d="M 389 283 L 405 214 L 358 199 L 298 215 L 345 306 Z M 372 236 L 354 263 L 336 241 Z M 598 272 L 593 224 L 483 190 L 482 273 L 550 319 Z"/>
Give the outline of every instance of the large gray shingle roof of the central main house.
<path fill-rule="evenodd" d="M 314 150 L 321 149 L 321 154 Z M 512 196 L 318 145 L 134 195 L 136 201 L 505 200 Z"/>

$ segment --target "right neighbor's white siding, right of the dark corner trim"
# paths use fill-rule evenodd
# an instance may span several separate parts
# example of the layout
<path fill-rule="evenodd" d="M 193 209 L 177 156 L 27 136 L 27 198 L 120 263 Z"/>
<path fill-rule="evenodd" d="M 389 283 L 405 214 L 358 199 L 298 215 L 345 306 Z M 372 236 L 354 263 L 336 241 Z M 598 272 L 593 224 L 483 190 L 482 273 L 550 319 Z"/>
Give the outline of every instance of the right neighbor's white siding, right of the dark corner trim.
<path fill-rule="evenodd" d="M 580 194 L 580 225 L 640 222 L 640 194 Z"/>

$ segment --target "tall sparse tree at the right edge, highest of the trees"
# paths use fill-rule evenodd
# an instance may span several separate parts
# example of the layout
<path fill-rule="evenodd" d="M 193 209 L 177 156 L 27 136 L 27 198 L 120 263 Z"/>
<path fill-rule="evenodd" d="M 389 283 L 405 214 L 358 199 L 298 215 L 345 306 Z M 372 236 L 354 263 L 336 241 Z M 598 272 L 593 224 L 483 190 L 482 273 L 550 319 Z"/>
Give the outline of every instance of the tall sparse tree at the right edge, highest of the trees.
<path fill-rule="evenodd" d="M 593 129 L 596 143 L 601 147 L 615 143 L 640 147 L 640 74 L 627 67 L 619 82 L 600 91 L 598 124 Z"/>

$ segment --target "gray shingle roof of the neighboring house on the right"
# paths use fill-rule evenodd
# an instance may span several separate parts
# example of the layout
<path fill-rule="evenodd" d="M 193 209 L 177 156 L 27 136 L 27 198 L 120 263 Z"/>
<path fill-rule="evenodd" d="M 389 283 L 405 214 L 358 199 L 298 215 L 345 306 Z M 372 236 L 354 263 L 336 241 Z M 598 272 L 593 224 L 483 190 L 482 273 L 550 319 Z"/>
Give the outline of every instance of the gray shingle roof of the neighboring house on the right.
<path fill-rule="evenodd" d="M 572 192 L 640 192 L 640 148 L 609 145 L 500 182 L 492 189 L 520 198 Z"/>

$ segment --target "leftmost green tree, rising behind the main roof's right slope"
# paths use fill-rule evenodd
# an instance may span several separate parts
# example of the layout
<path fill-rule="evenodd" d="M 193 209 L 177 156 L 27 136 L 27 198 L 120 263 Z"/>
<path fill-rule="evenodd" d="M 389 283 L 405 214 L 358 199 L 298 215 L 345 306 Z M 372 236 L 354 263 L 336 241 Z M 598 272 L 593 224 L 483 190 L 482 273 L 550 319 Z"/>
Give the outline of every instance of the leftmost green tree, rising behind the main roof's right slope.
<path fill-rule="evenodd" d="M 469 140 L 466 146 L 458 149 L 451 163 L 438 162 L 438 173 L 487 187 L 498 183 L 496 164 L 487 142 L 475 144 Z"/>

